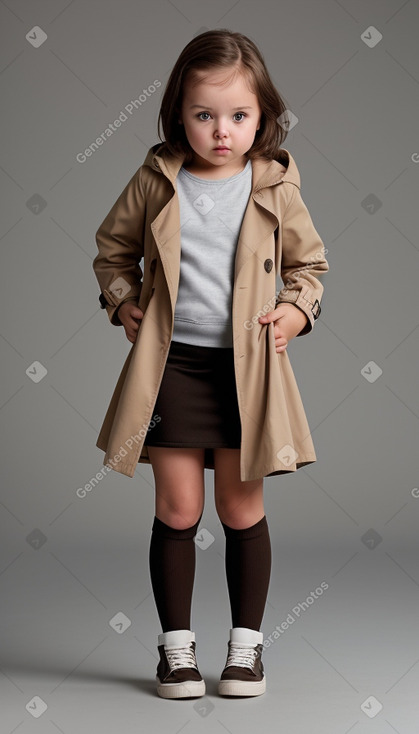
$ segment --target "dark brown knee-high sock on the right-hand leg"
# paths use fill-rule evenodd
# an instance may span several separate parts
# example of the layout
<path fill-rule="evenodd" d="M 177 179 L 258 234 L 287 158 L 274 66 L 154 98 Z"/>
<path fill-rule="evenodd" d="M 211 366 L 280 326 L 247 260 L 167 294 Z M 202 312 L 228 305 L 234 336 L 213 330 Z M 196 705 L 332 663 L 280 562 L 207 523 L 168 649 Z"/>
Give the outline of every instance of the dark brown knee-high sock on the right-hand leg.
<path fill-rule="evenodd" d="M 225 568 L 233 627 L 259 631 L 271 575 L 271 542 L 266 515 L 250 528 L 221 523 L 226 536 Z"/>

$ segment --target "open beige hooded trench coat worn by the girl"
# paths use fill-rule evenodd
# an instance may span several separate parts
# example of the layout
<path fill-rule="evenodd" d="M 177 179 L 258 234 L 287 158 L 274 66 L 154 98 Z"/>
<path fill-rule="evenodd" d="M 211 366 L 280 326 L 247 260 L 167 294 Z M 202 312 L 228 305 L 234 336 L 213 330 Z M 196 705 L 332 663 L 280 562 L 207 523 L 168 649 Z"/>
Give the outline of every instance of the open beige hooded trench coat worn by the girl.
<path fill-rule="evenodd" d="M 183 157 L 164 144 L 151 147 L 142 166 L 96 232 L 93 269 L 110 322 L 134 300 L 144 312 L 110 400 L 96 446 L 103 464 L 133 477 L 150 464 L 144 438 L 152 430 L 157 394 L 173 331 L 180 273 L 180 215 L 176 176 Z M 274 324 L 258 317 L 276 303 L 302 309 L 309 333 L 320 313 L 329 269 L 324 245 L 300 194 L 292 155 L 252 161 L 252 191 L 238 239 L 232 299 L 234 369 L 242 438 L 242 481 L 287 474 L 316 461 L 310 429 L 287 350 L 276 352 Z M 140 261 L 144 257 L 143 269 Z M 276 293 L 276 275 L 284 287 Z M 180 416 L 181 419 L 181 416 Z M 204 419 L 204 418 L 203 418 Z M 214 469 L 212 449 L 205 468 Z"/>

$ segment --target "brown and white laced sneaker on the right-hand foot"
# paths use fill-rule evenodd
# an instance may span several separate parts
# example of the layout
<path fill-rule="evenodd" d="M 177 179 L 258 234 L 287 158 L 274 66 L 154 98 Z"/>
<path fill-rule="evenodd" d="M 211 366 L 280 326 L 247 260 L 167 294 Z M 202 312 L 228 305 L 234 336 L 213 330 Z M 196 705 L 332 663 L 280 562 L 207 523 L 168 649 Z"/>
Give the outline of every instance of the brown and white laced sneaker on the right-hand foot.
<path fill-rule="evenodd" d="M 218 684 L 221 696 L 260 696 L 265 693 L 262 642 L 262 632 L 248 627 L 230 630 L 227 662 Z"/>

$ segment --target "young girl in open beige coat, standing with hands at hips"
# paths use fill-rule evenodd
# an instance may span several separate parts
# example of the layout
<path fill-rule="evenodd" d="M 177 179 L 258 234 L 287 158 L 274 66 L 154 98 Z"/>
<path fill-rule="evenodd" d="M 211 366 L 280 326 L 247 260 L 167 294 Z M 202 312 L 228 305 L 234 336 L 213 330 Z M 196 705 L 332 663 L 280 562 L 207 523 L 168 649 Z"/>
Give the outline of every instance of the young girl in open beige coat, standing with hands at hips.
<path fill-rule="evenodd" d="M 96 233 L 101 305 L 133 344 L 97 445 L 127 476 L 152 465 L 164 698 L 205 693 L 190 629 L 204 468 L 215 473 L 232 617 L 218 691 L 257 696 L 271 572 L 263 479 L 316 461 L 286 347 L 312 330 L 329 266 L 280 147 L 286 110 L 249 38 L 195 37 L 163 95 L 165 140 L 159 130 Z"/>

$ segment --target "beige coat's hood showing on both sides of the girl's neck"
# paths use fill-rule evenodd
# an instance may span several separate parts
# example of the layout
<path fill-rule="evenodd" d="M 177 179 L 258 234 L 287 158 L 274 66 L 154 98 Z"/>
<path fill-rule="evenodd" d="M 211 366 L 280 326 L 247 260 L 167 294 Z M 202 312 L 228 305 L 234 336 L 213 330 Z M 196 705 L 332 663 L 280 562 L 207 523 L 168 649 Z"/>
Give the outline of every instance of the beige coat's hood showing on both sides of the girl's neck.
<path fill-rule="evenodd" d="M 288 181 L 300 188 L 300 174 L 291 153 L 280 148 L 280 157 L 276 160 L 258 158 L 252 160 L 252 193 L 260 189 L 274 186 L 280 181 Z M 169 154 L 164 143 L 153 145 L 145 158 L 144 165 L 154 171 L 163 173 L 175 188 L 175 179 L 184 161 L 184 156 Z"/>

